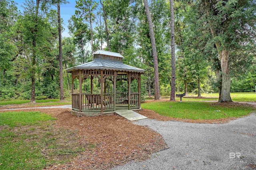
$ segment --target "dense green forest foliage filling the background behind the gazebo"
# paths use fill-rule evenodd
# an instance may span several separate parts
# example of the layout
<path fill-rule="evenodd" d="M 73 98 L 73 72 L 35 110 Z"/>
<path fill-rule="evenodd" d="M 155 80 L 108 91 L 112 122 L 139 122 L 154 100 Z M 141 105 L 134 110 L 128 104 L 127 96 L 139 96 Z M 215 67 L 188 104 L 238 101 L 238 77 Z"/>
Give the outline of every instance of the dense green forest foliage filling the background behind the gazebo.
<path fill-rule="evenodd" d="M 30 99 L 31 73 L 34 69 L 36 99 L 59 97 L 58 26 L 57 12 L 52 5 L 56 0 L 41 0 L 38 23 L 35 22 L 35 0 L 26 0 L 22 12 L 15 2 L 0 1 L 0 100 Z M 61 3 L 66 3 L 61 0 Z M 220 81 L 216 71 L 220 70 L 220 49 L 230 51 L 232 74 L 231 91 L 255 90 L 255 1 L 226 0 L 209 2 L 210 16 L 206 14 L 204 1 L 174 2 L 176 40 L 176 91 L 197 93 L 200 78 L 203 93 L 217 92 Z M 154 69 L 152 48 L 144 6 L 141 0 L 102 0 L 106 10 L 110 51 L 121 53 L 124 63 L 145 69 L 141 77 L 141 96 L 154 95 Z M 154 24 L 160 93 L 170 93 L 170 4 L 169 1 L 149 1 Z M 102 6 L 98 1 L 78 0 L 75 14 L 68 22 L 69 38 L 62 38 L 64 69 L 92 60 L 91 39 L 94 49 L 106 44 L 105 23 Z M 63 23 L 67 24 L 67 23 Z M 91 27 L 92 26 L 92 27 Z M 217 36 L 212 38 L 212 26 Z M 37 30 L 35 33 L 34 30 Z M 36 47 L 32 45 L 36 35 Z M 35 50 L 36 64 L 32 65 Z M 94 51 L 95 51 L 94 50 Z M 70 97 L 71 75 L 63 71 L 64 92 Z M 221 75 L 221 72 L 220 72 Z M 135 82 L 135 81 L 134 81 Z M 132 91 L 136 83 L 132 82 Z M 95 79 L 94 93 L 100 92 Z M 111 82 L 107 84 L 109 90 Z M 125 82 L 118 82 L 118 91 L 127 91 Z M 74 82 L 78 91 L 78 81 Z M 83 84 L 90 91 L 90 82 Z M 108 90 L 108 89 L 107 89 Z"/>

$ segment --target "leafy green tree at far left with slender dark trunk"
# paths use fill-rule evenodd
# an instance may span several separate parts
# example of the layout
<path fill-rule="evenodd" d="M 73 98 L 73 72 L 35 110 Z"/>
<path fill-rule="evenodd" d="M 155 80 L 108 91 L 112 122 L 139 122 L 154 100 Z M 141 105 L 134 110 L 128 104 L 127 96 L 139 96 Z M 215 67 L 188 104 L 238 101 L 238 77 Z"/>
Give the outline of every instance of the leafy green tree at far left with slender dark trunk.
<path fill-rule="evenodd" d="M 46 1 L 44 2 L 46 3 Z M 19 95 L 25 99 L 31 99 L 33 103 L 35 102 L 36 96 L 42 95 L 44 90 L 48 91 L 46 88 L 39 88 L 44 83 L 44 81 L 41 81 L 41 75 L 44 74 L 46 65 L 52 66 L 52 63 L 49 62 L 46 64 L 46 61 L 52 61 L 53 63 L 56 61 L 54 46 L 58 38 L 58 32 L 49 22 L 49 13 L 45 9 L 45 5 L 48 6 L 48 2 L 44 4 L 41 1 L 36 1 L 36 3 L 32 0 L 26 1 L 24 3 L 23 15 L 18 17 L 13 27 L 17 36 L 15 45 L 23 47 L 21 51 L 20 49 L 18 50 L 18 61 L 12 63 L 15 64 L 14 68 L 18 73 L 17 80 L 21 83 L 20 93 L 22 94 Z M 52 60 L 53 58 L 54 60 Z M 56 65 L 52 67 L 56 68 Z M 49 72 L 54 72 L 52 67 L 50 67 Z M 43 76 L 46 77 L 45 75 Z M 31 83 L 28 82 L 28 79 L 31 80 Z M 54 73 L 52 73 L 52 79 L 54 79 Z M 51 85 L 49 81 L 47 83 Z M 52 83 L 55 85 L 56 80 L 52 81 Z M 19 85 L 19 82 L 16 82 L 16 84 Z M 28 91 L 29 86 L 31 87 L 30 93 Z M 54 89 L 54 91 L 54 93 L 56 91 L 58 92 L 57 89 Z M 50 97 L 56 97 L 56 95 L 50 95 Z"/>

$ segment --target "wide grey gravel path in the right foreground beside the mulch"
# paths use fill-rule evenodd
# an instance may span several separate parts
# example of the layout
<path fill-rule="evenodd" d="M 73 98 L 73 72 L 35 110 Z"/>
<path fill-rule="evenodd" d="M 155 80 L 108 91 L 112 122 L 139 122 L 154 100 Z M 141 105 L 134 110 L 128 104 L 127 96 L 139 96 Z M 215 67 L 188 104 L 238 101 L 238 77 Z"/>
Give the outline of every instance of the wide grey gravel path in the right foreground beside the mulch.
<path fill-rule="evenodd" d="M 143 162 L 130 162 L 115 170 L 243 170 L 256 164 L 256 116 L 227 124 L 136 121 L 160 133 L 169 149 Z M 240 152 L 240 158 L 230 158 Z M 236 154 L 238 155 L 238 154 Z M 232 155 L 231 155 L 232 157 Z"/>

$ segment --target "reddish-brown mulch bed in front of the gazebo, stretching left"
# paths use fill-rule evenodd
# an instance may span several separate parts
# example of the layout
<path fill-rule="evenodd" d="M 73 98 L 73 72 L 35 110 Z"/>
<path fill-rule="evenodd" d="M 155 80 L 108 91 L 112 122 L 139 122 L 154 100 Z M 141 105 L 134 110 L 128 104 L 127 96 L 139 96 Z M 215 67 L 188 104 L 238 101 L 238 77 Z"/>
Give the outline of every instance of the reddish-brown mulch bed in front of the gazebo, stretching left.
<path fill-rule="evenodd" d="M 15 110 L 17 111 L 17 110 Z M 40 111 L 56 117 L 56 128 L 77 131 L 80 145 L 92 148 L 80 152 L 71 162 L 52 165 L 46 169 L 109 169 L 131 160 L 141 161 L 150 154 L 167 148 L 157 132 L 113 116 L 76 117 L 70 109 L 23 109 Z M 3 112 L 3 111 L 0 111 Z"/>

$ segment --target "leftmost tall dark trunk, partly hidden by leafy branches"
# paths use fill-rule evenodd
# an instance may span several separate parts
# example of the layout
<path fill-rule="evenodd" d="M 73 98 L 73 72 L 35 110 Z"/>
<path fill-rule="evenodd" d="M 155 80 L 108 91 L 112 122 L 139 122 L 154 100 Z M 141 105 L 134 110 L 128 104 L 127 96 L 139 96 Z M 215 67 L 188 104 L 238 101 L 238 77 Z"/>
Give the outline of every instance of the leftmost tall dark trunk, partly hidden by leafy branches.
<path fill-rule="evenodd" d="M 31 71 L 31 103 L 36 103 L 36 94 L 35 94 L 35 79 L 36 79 L 36 35 L 38 32 L 38 10 L 39 10 L 40 0 L 36 0 L 36 18 L 35 18 L 35 29 L 33 37 L 33 50 L 32 50 L 32 71 Z"/>

